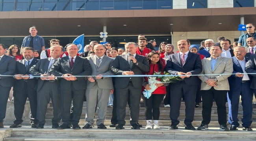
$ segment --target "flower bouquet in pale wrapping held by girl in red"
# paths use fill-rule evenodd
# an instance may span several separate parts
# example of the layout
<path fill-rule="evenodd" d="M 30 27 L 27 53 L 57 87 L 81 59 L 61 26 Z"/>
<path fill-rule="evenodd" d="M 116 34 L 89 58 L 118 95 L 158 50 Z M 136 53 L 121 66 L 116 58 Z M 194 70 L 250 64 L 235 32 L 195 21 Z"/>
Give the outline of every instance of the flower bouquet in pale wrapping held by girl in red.
<path fill-rule="evenodd" d="M 156 77 L 147 77 L 148 78 L 148 84 L 150 85 L 150 90 L 144 89 L 143 95 L 148 99 L 152 92 L 154 92 L 158 87 L 156 86 L 156 83 L 175 83 L 176 81 L 182 81 L 182 79 L 179 76 L 170 76 L 169 72 L 155 72 L 153 75 L 158 75 Z M 161 76 L 159 76 L 161 75 Z M 169 75 L 169 76 L 165 76 Z"/>

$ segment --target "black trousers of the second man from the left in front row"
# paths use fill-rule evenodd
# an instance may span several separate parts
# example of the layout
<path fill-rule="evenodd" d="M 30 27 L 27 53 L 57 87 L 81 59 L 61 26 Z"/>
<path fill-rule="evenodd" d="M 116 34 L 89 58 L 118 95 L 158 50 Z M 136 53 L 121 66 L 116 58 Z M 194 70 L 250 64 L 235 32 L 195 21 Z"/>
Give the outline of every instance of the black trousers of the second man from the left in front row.
<path fill-rule="evenodd" d="M 29 90 L 28 83 L 25 83 L 22 90 L 13 91 L 14 97 L 14 115 L 15 121 L 13 123 L 20 124 L 23 122 L 22 115 L 24 112 L 24 107 L 27 101 L 27 98 L 30 102 L 30 123 L 37 124 L 37 91 L 36 90 Z"/>

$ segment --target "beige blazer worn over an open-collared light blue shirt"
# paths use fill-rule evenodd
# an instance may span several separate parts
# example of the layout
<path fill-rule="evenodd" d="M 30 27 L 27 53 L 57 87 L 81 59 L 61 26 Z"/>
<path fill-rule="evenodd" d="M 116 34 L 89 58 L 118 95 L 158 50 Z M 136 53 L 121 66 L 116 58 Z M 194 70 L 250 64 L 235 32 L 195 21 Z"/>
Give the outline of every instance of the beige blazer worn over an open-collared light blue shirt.
<path fill-rule="evenodd" d="M 231 76 L 233 72 L 233 63 L 231 58 L 221 57 L 216 61 L 213 71 L 211 71 L 211 57 L 202 60 L 203 69 L 200 74 L 212 74 L 207 76 L 198 76 L 201 83 L 201 90 L 210 90 L 211 86 L 204 83 L 210 78 L 217 78 L 217 87 L 215 90 L 229 90 L 228 77 Z M 215 75 L 215 74 L 225 74 L 225 75 Z"/>

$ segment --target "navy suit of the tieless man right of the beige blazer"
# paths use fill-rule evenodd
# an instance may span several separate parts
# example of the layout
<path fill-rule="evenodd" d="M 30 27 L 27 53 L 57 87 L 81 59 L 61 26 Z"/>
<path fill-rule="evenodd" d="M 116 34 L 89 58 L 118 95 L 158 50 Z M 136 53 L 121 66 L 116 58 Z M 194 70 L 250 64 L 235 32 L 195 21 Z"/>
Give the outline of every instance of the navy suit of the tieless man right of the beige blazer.
<path fill-rule="evenodd" d="M 242 126 L 250 127 L 252 123 L 252 89 L 250 89 L 250 82 L 242 82 L 243 77 L 237 77 L 235 74 L 237 72 L 243 73 L 243 69 L 236 57 L 232 57 L 233 61 L 233 74 L 228 77 L 228 83 L 230 86 L 230 90 L 228 91 L 228 97 L 231 102 L 231 111 L 232 111 L 232 123 L 231 125 L 235 125 L 239 127 L 238 123 L 238 105 L 239 99 L 241 95 L 242 106 L 243 106 L 243 118 L 242 118 Z M 248 61 L 248 58 L 245 57 L 245 61 Z M 252 80 L 252 76 L 248 74 L 250 80 Z"/>

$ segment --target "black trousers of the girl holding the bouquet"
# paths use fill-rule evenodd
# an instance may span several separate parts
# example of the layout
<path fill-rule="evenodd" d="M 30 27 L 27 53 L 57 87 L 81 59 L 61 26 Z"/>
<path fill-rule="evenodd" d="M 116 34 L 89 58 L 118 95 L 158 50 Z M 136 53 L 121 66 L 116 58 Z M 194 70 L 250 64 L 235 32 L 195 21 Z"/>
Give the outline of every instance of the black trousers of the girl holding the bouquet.
<path fill-rule="evenodd" d="M 165 94 L 152 94 L 148 99 L 142 95 L 145 103 L 145 117 L 146 120 L 151 120 L 152 116 L 154 120 L 159 120 L 160 116 L 160 104 Z M 153 112 L 152 112 L 153 110 Z"/>

